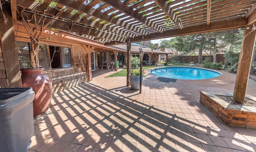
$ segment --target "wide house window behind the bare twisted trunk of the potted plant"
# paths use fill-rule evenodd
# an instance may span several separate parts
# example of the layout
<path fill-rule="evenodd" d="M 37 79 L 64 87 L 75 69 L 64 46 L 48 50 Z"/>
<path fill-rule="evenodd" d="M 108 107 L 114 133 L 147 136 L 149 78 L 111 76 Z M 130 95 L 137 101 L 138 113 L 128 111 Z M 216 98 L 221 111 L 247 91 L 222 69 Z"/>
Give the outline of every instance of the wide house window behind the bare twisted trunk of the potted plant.
<path fill-rule="evenodd" d="M 17 41 L 17 50 L 20 69 L 30 68 L 30 43 Z M 49 46 L 49 53 L 48 55 L 47 45 L 41 44 L 38 53 L 40 67 L 45 70 L 72 67 L 69 47 Z"/>

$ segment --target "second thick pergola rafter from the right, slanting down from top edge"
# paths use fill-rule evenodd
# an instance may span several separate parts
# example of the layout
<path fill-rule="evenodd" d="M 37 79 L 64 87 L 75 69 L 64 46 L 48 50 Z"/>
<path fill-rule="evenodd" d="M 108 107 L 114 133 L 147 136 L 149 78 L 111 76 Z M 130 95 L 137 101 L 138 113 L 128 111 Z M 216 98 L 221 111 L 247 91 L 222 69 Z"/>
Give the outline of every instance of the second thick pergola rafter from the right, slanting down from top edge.
<path fill-rule="evenodd" d="M 155 3 L 158 5 L 158 7 L 162 9 L 162 11 L 168 16 L 168 18 L 170 18 L 174 22 L 174 24 L 178 26 L 180 30 L 182 30 L 183 28 L 182 22 L 179 21 L 176 14 L 174 14 L 174 12 L 168 6 L 168 4 L 163 0 L 155 0 Z"/>

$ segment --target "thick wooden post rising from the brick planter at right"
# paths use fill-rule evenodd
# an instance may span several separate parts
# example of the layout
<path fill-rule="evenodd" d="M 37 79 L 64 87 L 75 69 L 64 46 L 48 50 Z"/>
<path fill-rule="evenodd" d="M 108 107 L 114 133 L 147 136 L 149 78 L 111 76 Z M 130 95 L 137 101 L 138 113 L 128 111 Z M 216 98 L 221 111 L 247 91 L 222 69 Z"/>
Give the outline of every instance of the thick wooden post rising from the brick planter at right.
<path fill-rule="evenodd" d="M 252 25 L 249 27 L 249 29 L 244 29 L 244 37 L 236 73 L 236 83 L 233 96 L 233 101 L 236 103 L 244 103 L 252 63 L 256 30 L 252 31 Z"/>

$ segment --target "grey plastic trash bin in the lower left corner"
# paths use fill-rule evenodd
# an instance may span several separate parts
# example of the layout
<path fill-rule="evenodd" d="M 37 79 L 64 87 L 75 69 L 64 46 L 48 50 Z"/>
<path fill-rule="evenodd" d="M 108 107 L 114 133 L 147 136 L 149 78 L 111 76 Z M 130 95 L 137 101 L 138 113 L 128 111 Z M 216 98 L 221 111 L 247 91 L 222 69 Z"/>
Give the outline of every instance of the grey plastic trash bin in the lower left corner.
<path fill-rule="evenodd" d="M 34 134 L 32 87 L 0 88 L 0 152 L 27 152 Z"/>

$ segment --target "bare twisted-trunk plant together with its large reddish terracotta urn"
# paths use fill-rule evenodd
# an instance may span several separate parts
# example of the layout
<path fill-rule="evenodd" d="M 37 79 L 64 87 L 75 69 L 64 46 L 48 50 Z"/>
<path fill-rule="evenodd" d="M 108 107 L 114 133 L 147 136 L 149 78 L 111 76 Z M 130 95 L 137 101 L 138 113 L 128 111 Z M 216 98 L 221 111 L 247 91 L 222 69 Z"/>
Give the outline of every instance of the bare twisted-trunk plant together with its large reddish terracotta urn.
<path fill-rule="evenodd" d="M 46 8 L 47 12 L 50 8 Z M 58 32 L 54 32 L 49 38 L 42 38 L 45 28 L 51 24 L 58 16 L 64 12 L 65 9 L 60 9 L 57 14 L 47 23 L 46 16 L 41 16 L 41 25 L 37 25 L 39 12 L 34 12 L 30 16 L 24 12 L 24 9 L 18 8 L 18 16 L 20 17 L 20 24 L 22 24 L 30 38 L 30 68 L 21 69 L 22 71 L 22 87 L 32 87 L 35 92 L 35 99 L 33 101 L 34 116 L 45 113 L 50 107 L 52 98 L 52 81 L 47 75 L 43 74 L 44 68 L 39 64 L 39 47 L 42 39 L 50 39 Z"/>

